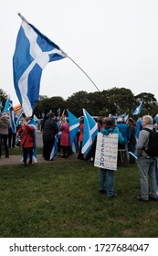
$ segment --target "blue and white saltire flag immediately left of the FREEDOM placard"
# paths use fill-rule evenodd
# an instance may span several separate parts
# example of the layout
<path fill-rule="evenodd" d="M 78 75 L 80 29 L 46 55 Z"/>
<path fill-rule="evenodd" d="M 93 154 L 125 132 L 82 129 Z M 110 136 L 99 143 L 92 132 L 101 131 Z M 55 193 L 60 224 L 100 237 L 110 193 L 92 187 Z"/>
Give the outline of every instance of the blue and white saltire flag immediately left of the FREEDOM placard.
<path fill-rule="evenodd" d="M 98 123 L 90 116 L 90 113 L 83 109 L 84 115 L 84 131 L 82 141 L 82 154 L 88 154 L 90 146 L 93 143 L 95 136 L 99 132 Z"/>

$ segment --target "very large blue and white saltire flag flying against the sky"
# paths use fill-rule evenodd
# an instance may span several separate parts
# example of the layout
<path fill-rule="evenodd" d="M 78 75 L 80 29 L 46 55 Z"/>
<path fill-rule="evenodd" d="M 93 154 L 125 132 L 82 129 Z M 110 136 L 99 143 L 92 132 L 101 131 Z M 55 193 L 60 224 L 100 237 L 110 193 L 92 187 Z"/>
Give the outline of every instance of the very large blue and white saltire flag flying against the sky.
<path fill-rule="evenodd" d="M 55 43 L 22 18 L 13 57 L 14 83 L 18 100 L 26 116 L 32 116 L 38 101 L 42 70 L 50 61 L 63 59 L 67 54 Z"/>

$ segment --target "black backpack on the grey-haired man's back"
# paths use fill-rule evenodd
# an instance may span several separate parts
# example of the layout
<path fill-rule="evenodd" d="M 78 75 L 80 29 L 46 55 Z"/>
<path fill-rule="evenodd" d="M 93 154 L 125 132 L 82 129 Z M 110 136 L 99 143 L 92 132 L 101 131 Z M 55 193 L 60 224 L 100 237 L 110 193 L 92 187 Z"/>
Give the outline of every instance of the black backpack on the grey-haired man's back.
<path fill-rule="evenodd" d="M 145 153 L 149 156 L 158 156 L 158 133 L 155 129 L 151 130 L 149 128 L 143 128 L 142 130 L 150 133 L 147 149 L 144 149 Z"/>

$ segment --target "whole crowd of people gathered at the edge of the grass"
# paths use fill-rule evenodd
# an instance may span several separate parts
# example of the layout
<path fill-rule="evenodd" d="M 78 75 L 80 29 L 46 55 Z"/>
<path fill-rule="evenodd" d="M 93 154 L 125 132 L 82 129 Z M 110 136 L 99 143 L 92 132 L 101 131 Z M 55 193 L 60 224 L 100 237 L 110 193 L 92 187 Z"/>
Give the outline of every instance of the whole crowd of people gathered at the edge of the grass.
<path fill-rule="evenodd" d="M 9 157 L 9 147 L 15 147 L 16 136 L 20 136 L 20 147 L 22 148 L 23 165 L 26 167 L 32 164 L 33 152 L 35 148 L 35 125 L 30 124 L 31 117 L 23 117 L 16 134 L 11 132 L 9 116 L 2 113 L 0 116 L 0 158 L 2 155 L 2 144 L 5 147 L 5 157 Z M 142 202 L 157 200 L 156 168 L 157 156 L 150 156 L 146 153 L 148 147 L 150 132 L 143 129 L 153 130 L 153 117 L 145 115 L 142 117 L 142 127 L 139 137 L 136 139 L 137 123 L 128 118 L 125 122 L 123 117 L 117 119 L 106 117 L 95 120 L 98 123 L 99 132 L 104 135 L 110 133 L 118 134 L 118 166 L 126 163 L 127 166 L 134 165 L 137 159 L 138 170 L 141 183 L 141 194 L 137 199 Z M 157 128 L 157 127 L 156 127 Z M 43 157 L 49 161 L 52 148 L 55 144 L 55 137 L 58 136 L 58 152 L 61 158 L 68 158 L 71 154 L 69 139 L 68 117 L 57 120 L 54 112 L 47 113 L 47 118 L 42 123 Z M 82 153 L 82 141 L 84 134 L 84 118 L 79 119 L 78 155 L 79 160 L 90 160 L 94 162 L 97 136 L 91 145 L 87 155 Z M 12 140 L 11 140 L 12 137 Z M 99 192 L 107 197 L 117 197 L 114 192 L 114 174 L 115 171 L 106 168 L 100 168 Z"/>

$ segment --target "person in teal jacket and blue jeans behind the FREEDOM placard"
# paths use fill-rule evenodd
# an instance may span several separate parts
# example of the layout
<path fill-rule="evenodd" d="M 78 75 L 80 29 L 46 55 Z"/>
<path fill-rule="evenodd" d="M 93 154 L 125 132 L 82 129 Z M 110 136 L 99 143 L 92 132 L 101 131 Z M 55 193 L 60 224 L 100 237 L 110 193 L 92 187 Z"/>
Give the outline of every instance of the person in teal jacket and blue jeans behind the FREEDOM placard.
<path fill-rule="evenodd" d="M 124 144 L 124 138 L 122 137 L 118 128 L 114 124 L 112 117 L 107 117 L 103 120 L 103 127 L 101 133 L 104 135 L 109 135 L 110 133 L 117 133 L 119 136 L 119 143 Z M 99 176 L 99 192 L 100 194 L 106 194 L 107 197 L 117 197 L 117 194 L 113 190 L 113 180 L 114 180 L 114 170 L 100 168 Z M 107 176 L 107 177 L 106 177 Z M 107 185 L 106 185 L 107 178 Z"/>

